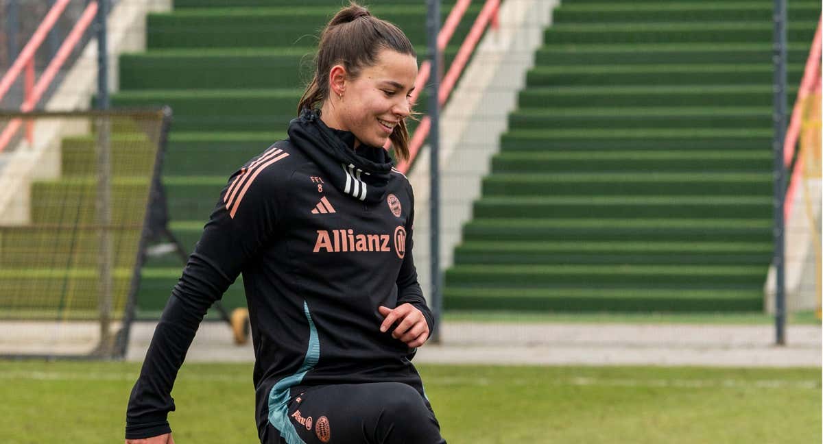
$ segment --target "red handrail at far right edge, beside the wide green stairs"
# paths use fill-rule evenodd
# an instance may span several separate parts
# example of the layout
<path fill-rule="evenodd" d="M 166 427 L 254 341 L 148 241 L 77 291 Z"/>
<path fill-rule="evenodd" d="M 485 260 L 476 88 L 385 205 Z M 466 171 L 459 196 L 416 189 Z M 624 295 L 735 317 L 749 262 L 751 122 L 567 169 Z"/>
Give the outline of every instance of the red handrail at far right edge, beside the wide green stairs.
<path fill-rule="evenodd" d="M 786 138 L 783 141 L 783 164 L 788 168 L 794 159 L 794 147 L 797 144 L 797 137 L 800 135 L 800 127 L 802 123 L 803 108 L 806 104 L 807 96 L 814 93 L 815 90 L 821 88 L 821 20 L 817 22 L 817 31 L 815 38 L 811 41 L 811 49 L 809 50 L 809 58 L 806 60 L 806 69 L 803 72 L 802 81 L 800 81 L 800 88 L 797 90 L 797 99 L 794 102 L 792 109 L 792 120 L 788 124 L 786 131 Z M 789 215 L 792 214 L 792 202 L 794 195 L 797 193 L 797 187 L 802 180 L 803 157 L 797 156 L 794 162 L 794 169 L 792 176 L 789 179 L 788 189 L 786 190 L 786 198 L 783 201 L 783 220 L 788 224 Z"/>

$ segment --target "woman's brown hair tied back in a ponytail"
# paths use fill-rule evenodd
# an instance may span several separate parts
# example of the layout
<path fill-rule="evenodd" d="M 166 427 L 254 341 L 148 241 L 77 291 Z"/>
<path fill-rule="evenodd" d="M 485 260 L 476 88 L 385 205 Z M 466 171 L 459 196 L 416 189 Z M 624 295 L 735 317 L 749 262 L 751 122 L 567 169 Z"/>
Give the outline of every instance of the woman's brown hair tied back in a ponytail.
<path fill-rule="evenodd" d="M 328 98 L 328 72 L 334 65 L 342 65 L 353 78 L 360 76 L 363 67 L 374 66 L 380 50 L 392 49 L 417 57 L 409 39 L 396 25 L 372 16 L 365 7 L 351 2 L 328 22 L 320 34 L 318 53 L 314 58 L 314 78 L 300 98 L 297 113 L 313 109 Z M 406 119 L 394 127 L 389 136 L 394 155 L 402 160 L 409 157 L 409 134 Z"/>

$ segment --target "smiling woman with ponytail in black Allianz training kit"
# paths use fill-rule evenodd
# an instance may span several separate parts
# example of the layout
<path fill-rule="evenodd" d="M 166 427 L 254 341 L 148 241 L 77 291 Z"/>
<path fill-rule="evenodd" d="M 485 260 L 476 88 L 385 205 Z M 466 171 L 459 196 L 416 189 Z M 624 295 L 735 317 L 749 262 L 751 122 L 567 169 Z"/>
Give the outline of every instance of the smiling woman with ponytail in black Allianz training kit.
<path fill-rule="evenodd" d="M 432 314 L 412 259 L 407 158 L 416 53 L 351 4 L 319 42 L 289 138 L 233 174 L 128 403 L 127 443 L 170 443 L 170 391 L 207 308 L 242 272 L 263 443 L 439 443 L 410 362 Z M 319 109 L 317 109 L 319 107 Z"/>

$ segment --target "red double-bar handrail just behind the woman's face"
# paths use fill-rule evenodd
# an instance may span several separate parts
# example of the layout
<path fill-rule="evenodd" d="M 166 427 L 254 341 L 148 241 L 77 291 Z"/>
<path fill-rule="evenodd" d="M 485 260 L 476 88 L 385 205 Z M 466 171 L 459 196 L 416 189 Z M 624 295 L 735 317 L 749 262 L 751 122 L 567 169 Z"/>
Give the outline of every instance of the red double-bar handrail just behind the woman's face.
<path fill-rule="evenodd" d="M 449 43 L 449 39 L 454 33 L 454 30 L 457 28 L 457 25 L 460 23 L 460 19 L 463 17 L 463 14 L 466 12 L 467 7 L 471 3 L 471 0 L 459 0 L 455 3 L 452 11 L 449 13 L 449 17 L 446 18 L 444 22 L 443 28 L 440 30 L 439 35 L 437 36 L 437 48 L 442 51 L 445 49 L 446 44 Z M 463 67 L 466 66 L 468 62 L 468 58 L 471 57 L 472 52 L 474 51 L 475 47 L 477 46 L 477 42 L 480 41 L 483 31 L 486 30 L 486 25 L 489 25 L 491 22 L 492 25 L 496 27 L 497 24 L 497 10 L 500 7 L 500 0 L 487 0 L 486 4 L 481 9 L 480 14 L 477 15 L 477 19 L 474 21 L 472 25 L 472 29 L 469 30 L 466 39 L 463 40 L 463 44 L 460 45 L 460 49 L 458 49 L 457 55 L 454 57 L 451 66 L 449 67 L 449 72 L 443 77 L 443 83 L 440 85 L 440 89 L 438 90 L 437 101 L 439 105 L 443 105 L 446 99 L 449 97 L 449 94 L 454 87 L 454 84 L 457 82 L 458 77 L 463 72 Z M 429 61 L 425 61 L 421 63 L 420 71 L 417 74 L 417 79 L 415 81 L 415 90 L 412 91 L 412 103 L 416 102 L 417 97 L 420 95 L 420 92 L 425 85 L 425 82 L 429 80 L 429 76 L 431 74 L 431 64 Z M 417 153 L 420 151 L 421 146 L 423 146 L 423 141 L 425 141 L 425 137 L 429 135 L 429 131 L 431 129 L 431 119 L 428 116 L 425 116 L 421 119 L 419 125 L 412 135 L 412 140 L 409 141 L 409 159 L 405 161 L 400 161 L 398 163 L 397 169 L 401 173 L 407 173 L 409 167 L 414 162 Z M 388 143 L 387 143 L 388 146 Z"/>

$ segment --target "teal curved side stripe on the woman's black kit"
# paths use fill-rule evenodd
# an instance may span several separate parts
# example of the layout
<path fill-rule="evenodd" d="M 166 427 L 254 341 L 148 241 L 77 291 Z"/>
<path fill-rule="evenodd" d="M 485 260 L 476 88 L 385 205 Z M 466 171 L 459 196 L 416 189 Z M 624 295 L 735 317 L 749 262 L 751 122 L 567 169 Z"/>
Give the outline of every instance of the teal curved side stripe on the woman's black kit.
<path fill-rule="evenodd" d="M 303 301 L 303 312 L 309 320 L 309 349 L 306 350 L 306 357 L 303 365 L 290 377 L 284 377 L 272 386 L 272 391 L 268 393 L 268 422 L 280 432 L 280 436 L 286 440 L 286 444 L 305 444 L 295 429 L 295 425 L 289 421 L 289 392 L 292 386 L 296 386 L 303 381 L 305 374 L 309 372 L 320 359 L 320 340 L 317 335 L 317 328 L 309 314 L 309 304 Z"/>

